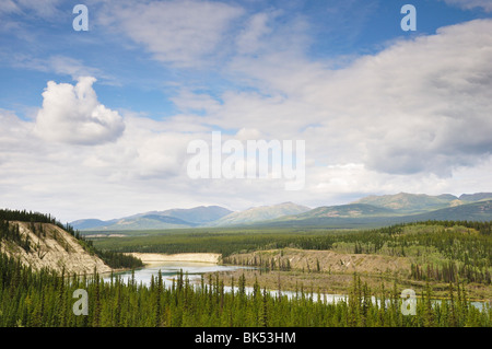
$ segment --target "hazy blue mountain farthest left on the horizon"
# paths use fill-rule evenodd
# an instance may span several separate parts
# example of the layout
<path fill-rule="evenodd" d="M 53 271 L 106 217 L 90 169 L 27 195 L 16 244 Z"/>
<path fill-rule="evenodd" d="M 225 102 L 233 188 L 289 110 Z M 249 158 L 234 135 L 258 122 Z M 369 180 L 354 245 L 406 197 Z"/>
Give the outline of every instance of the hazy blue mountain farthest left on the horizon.
<path fill-rule="evenodd" d="M 191 209 L 171 209 L 166 211 L 139 213 L 109 221 L 85 219 L 71 222 L 70 224 L 80 231 L 191 228 L 215 221 L 231 212 L 231 210 L 219 206 L 200 206 Z"/>

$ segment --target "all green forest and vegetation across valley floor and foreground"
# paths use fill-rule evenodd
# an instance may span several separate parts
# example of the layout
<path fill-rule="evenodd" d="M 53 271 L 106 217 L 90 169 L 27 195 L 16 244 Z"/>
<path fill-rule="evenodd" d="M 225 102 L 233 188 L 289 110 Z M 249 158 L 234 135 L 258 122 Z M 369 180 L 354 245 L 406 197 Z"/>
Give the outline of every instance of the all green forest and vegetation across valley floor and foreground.
<path fill-rule="evenodd" d="M 38 213 L 35 213 L 38 214 Z M 0 240 L 31 248 L 12 221 L 26 221 L 38 236 L 44 224 L 60 226 L 49 216 L 0 211 Z M 10 222 L 8 222 L 10 221 Z M 63 226 L 63 225 L 61 225 Z M 225 261 L 236 254 L 293 247 L 300 251 L 332 251 L 338 254 L 397 256 L 411 261 L 407 280 L 373 280 L 371 286 L 354 275 L 344 283 L 347 302 L 313 301 L 314 287 L 307 291 L 301 283 L 297 296 L 276 298 L 258 279 L 254 291 L 245 291 L 246 278 L 226 279 L 219 274 L 208 276 L 192 286 L 179 275 L 173 287 L 163 287 L 162 276 L 150 286 L 134 280 L 124 283 L 112 276 L 104 281 L 92 276 L 57 275 L 43 269 L 34 271 L 19 260 L 0 255 L 0 326 L 488 326 L 492 311 L 484 304 L 481 311 L 470 305 L 469 287 L 490 288 L 492 271 L 492 222 L 426 221 L 396 224 L 373 230 L 298 231 L 282 229 L 189 229 L 164 232 L 126 232 L 126 237 L 90 240 L 63 226 L 92 253 L 114 265 L 133 265 L 122 252 L 153 253 L 221 253 Z M 281 256 L 281 255 L 280 255 Z M 389 257 L 385 257 L 389 258 Z M 384 258 L 383 258 L 384 259 Z M 255 259 L 251 259 L 255 260 Z M 250 263 L 250 261 L 248 261 Z M 253 261 L 268 270 L 294 275 L 291 265 L 261 259 Z M 251 264 L 249 264 L 251 265 Z M 313 279 L 324 275 L 316 259 L 303 275 Z M 283 271 L 280 271 L 283 270 Z M 263 275 L 266 275 L 263 274 Z M 330 272 L 328 272 L 330 274 Z M 350 279 L 350 275 L 345 274 Z M 367 279 L 368 275 L 364 275 Z M 379 279 L 383 281 L 383 279 Z M 417 299 L 417 314 L 401 312 L 401 282 L 422 287 Z M 279 281 L 280 282 L 280 281 Z M 391 281 L 393 282 L 393 281 Z M 225 291 L 233 286 L 233 292 Z M 391 283 L 389 283 L 391 284 Z M 261 287 L 263 289 L 261 289 Z M 89 294 L 89 315 L 72 312 L 73 291 L 84 289 Z M 316 293 L 320 293 L 319 290 Z M 441 301 L 435 301 L 440 298 Z M 323 299 L 323 296 L 321 296 Z M 379 300 L 379 301 L 376 301 Z M 382 306 L 380 304 L 385 304 Z"/>

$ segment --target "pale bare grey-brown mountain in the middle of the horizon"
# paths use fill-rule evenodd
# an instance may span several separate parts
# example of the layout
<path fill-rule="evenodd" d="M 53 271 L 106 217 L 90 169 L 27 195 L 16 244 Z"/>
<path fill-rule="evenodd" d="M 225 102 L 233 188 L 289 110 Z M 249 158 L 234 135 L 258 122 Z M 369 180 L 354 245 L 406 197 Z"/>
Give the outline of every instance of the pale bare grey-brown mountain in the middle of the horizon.
<path fill-rule="evenodd" d="M 260 206 L 254 207 L 244 211 L 230 213 L 210 225 L 223 226 L 223 225 L 238 225 L 249 224 L 259 221 L 272 220 L 283 216 L 297 214 L 308 211 L 306 206 L 296 205 L 293 202 L 283 202 L 273 206 Z"/>

